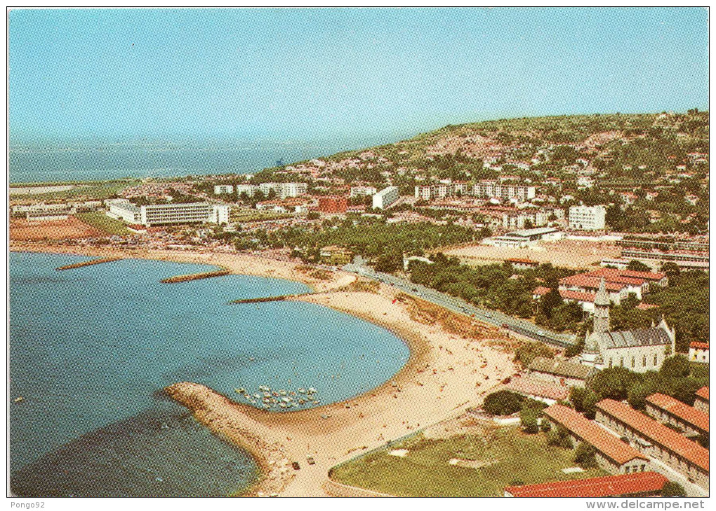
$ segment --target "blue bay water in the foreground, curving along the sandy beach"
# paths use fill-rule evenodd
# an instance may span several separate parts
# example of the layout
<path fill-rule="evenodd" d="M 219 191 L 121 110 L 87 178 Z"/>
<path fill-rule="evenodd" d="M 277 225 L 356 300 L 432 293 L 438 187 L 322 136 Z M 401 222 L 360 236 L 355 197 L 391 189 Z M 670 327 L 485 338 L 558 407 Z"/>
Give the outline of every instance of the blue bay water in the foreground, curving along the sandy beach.
<path fill-rule="evenodd" d="M 306 291 L 299 283 L 162 284 L 209 268 L 162 261 L 54 270 L 84 259 L 10 255 L 11 487 L 21 495 L 236 492 L 256 477 L 251 457 L 160 389 L 197 381 L 241 400 L 238 386 L 313 386 L 328 404 L 382 384 L 409 355 L 390 332 L 329 308 L 227 304 Z"/>

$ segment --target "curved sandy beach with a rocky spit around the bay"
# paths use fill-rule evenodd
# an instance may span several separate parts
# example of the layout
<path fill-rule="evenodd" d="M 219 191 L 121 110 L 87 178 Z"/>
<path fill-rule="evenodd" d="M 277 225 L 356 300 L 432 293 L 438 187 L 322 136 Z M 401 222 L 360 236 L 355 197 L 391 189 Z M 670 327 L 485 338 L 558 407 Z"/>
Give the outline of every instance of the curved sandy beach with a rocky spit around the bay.
<path fill-rule="evenodd" d="M 326 496 L 324 487 L 331 467 L 460 414 L 479 404 L 500 379 L 517 371 L 512 354 L 488 346 L 488 338 L 465 339 L 448 333 L 439 323 L 416 321 L 410 300 L 401 299 L 389 286 L 379 286 L 377 293 L 340 291 L 355 280 L 340 271 L 328 281 L 316 281 L 300 270 L 301 265 L 252 255 L 37 245 L 15 245 L 11 250 L 208 263 L 231 273 L 289 278 L 318 291 L 297 300 L 371 321 L 410 347 L 407 364 L 382 386 L 341 403 L 297 412 L 266 412 L 192 382 L 168 387 L 168 394 L 213 433 L 256 457 L 263 475 L 248 495 Z M 315 464 L 306 462 L 307 455 Z M 294 470 L 291 462 L 299 462 L 301 468 Z"/>

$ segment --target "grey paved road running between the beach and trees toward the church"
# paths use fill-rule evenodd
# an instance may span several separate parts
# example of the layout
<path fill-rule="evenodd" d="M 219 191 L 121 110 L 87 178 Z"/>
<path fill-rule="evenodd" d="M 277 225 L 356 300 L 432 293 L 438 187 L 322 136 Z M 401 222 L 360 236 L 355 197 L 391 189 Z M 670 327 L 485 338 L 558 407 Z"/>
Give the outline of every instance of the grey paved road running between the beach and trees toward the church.
<path fill-rule="evenodd" d="M 490 311 L 485 308 L 475 307 L 473 304 L 466 302 L 462 298 L 456 298 L 455 296 L 440 293 L 440 291 L 435 291 L 435 289 L 420 286 L 420 284 L 412 283 L 404 278 L 390 275 L 389 273 L 379 273 L 368 266 L 347 264 L 342 269 L 344 271 L 357 273 L 358 275 L 367 278 L 391 284 L 395 288 L 400 289 L 400 291 L 417 296 L 423 300 L 430 301 L 436 305 L 445 307 L 450 311 L 465 314 L 466 316 L 474 316 L 485 323 L 490 323 L 495 326 L 503 326 L 503 324 L 506 324 L 511 330 L 537 341 L 557 344 L 558 346 L 570 346 L 571 344 L 576 343 L 574 335 L 556 334 L 555 332 L 536 326 L 534 323 L 530 323 L 529 321 L 513 318 L 512 316 L 508 316 L 507 314 L 499 311 Z"/>

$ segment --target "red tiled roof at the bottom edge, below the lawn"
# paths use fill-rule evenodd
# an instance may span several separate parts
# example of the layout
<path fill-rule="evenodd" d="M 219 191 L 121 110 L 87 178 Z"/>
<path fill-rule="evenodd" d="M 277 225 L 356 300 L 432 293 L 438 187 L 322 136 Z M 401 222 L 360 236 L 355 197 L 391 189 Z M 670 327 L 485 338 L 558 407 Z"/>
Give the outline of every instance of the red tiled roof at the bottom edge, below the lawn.
<path fill-rule="evenodd" d="M 545 482 L 541 485 L 508 486 L 513 497 L 617 497 L 658 492 L 668 479 L 658 472 L 608 475 L 591 479 Z"/>

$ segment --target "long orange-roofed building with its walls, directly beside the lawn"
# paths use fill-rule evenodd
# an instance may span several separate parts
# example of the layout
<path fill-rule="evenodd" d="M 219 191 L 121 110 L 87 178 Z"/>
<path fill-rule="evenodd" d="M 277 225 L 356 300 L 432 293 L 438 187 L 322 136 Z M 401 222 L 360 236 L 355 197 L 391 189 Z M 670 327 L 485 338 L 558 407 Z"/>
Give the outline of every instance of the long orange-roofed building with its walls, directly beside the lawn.
<path fill-rule="evenodd" d="M 590 421 L 569 407 L 553 404 L 543 410 L 544 417 L 553 427 L 562 427 L 569 432 L 572 446 L 580 442 L 594 447 L 596 462 L 611 474 L 632 474 L 651 469 L 649 458 L 621 442 L 619 437 L 607 432 L 599 424 Z"/>

